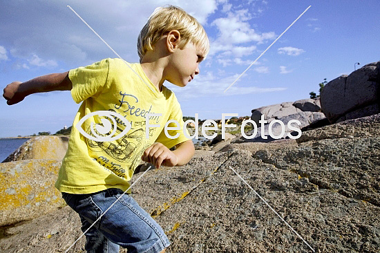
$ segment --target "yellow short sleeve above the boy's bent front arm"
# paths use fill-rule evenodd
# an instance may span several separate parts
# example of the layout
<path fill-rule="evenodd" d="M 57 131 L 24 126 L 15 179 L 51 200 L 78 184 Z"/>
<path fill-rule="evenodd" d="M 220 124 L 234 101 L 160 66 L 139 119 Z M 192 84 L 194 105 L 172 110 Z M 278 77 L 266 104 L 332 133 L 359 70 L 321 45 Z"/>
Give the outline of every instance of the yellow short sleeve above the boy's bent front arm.
<path fill-rule="evenodd" d="M 171 147 L 174 147 L 176 144 L 180 144 L 184 141 L 191 140 L 184 135 L 183 131 L 186 131 L 187 135 L 189 135 L 189 132 L 187 131 L 187 129 L 183 130 L 184 121 L 182 118 L 182 110 L 180 107 L 180 103 L 178 103 L 177 98 L 175 98 L 175 96 L 169 120 L 175 120 L 175 122 L 178 122 L 178 124 L 176 124 L 175 122 L 171 122 L 168 124 L 168 127 L 178 128 L 178 130 L 168 130 L 168 135 L 175 136 L 177 135 L 177 133 L 179 133 L 178 138 L 168 138 L 164 129 L 162 129 L 162 132 L 160 133 L 160 135 L 158 135 L 156 142 L 160 142 L 170 149 Z"/>

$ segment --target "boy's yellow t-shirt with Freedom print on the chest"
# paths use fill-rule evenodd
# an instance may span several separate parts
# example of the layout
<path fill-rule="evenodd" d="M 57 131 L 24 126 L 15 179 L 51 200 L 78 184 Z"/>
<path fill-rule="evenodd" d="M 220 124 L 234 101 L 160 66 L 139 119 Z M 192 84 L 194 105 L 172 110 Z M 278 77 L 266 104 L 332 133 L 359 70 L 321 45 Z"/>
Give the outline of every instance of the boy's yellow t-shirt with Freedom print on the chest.
<path fill-rule="evenodd" d="M 182 111 L 174 93 L 165 86 L 162 86 L 161 92 L 158 91 L 140 64 L 129 64 L 133 71 L 127 64 L 122 59 L 104 59 L 69 72 L 68 76 L 73 83 L 71 95 L 77 104 L 82 104 L 75 116 L 68 150 L 55 182 L 59 191 L 71 194 L 89 194 L 108 188 L 126 191 L 135 167 L 140 164 L 142 153 L 153 142 L 161 142 L 171 148 L 189 140 L 182 130 Z M 99 139 L 86 138 L 75 126 L 86 115 L 97 111 L 118 113 L 113 116 L 117 123 L 116 134 L 113 136 L 128 126 L 120 117 L 131 123 L 131 129 L 117 140 L 97 141 Z M 149 118 L 149 124 L 160 126 L 149 128 L 149 138 L 146 138 L 146 113 L 162 113 L 161 116 Z M 98 115 L 90 116 L 82 122 L 82 132 L 93 138 L 94 133 L 106 136 L 106 133 L 97 131 L 99 129 L 96 127 L 106 126 L 102 124 L 102 118 L 112 124 L 113 120 Z M 180 130 L 168 131 L 171 136 L 179 133 L 178 138 L 167 138 L 164 133 L 168 120 L 179 123 Z M 171 123 L 169 127 L 176 126 Z M 115 129 L 114 124 L 112 129 Z"/>

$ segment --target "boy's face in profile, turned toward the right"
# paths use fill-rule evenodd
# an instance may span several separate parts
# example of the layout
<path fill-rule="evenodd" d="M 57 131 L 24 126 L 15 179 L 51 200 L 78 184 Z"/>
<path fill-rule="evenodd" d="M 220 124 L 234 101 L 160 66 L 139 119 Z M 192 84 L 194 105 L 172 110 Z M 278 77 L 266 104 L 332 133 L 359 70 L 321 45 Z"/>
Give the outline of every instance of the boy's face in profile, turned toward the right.
<path fill-rule="evenodd" d="M 202 62 L 202 53 L 189 42 L 184 48 L 175 48 L 168 68 L 167 80 L 172 84 L 184 87 L 198 75 L 198 65 Z"/>

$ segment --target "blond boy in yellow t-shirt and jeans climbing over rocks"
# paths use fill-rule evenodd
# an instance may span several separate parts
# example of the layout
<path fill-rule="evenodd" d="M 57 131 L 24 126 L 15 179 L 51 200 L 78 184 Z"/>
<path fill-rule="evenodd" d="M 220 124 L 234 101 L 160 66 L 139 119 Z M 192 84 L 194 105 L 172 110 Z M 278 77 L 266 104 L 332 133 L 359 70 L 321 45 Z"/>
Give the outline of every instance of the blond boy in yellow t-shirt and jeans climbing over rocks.
<path fill-rule="evenodd" d="M 79 214 L 83 231 L 129 188 L 140 159 L 158 168 L 184 165 L 194 153 L 193 143 L 182 131 L 180 104 L 162 84 L 167 80 L 186 86 L 199 73 L 198 64 L 209 50 L 205 30 L 180 8 L 158 8 L 140 32 L 137 49 L 140 64 L 104 59 L 66 73 L 12 82 L 4 88 L 7 104 L 16 104 L 32 93 L 66 90 L 75 102 L 82 102 L 55 187 Z M 108 127 L 93 114 L 96 111 L 118 113 L 131 123 L 131 129 L 117 140 L 97 139 Z M 148 113 L 162 114 L 146 120 Z M 117 122 L 113 126 L 117 133 L 127 128 L 123 119 L 111 120 Z M 179 130 L 165 133 L 169 120 L 179 122 Z M 84 126 L 81 129 L 79 121 Z M 146 124 L 160 127 L 146 131 Z M 168 133 L 178 138 L 170 138 Z M 120 245 L 128 252 L 164 252 L 169 246 L 160 225 L 133 200 L 131 190 L 127 193 L 86 233 L 88 252 L 119 252 Z"/>

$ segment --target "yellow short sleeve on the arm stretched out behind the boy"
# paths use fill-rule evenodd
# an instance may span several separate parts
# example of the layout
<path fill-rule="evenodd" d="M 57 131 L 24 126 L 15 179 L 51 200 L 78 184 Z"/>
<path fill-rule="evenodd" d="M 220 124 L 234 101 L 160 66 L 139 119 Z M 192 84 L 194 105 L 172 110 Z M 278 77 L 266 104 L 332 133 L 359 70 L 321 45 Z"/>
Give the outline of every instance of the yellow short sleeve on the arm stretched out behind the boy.
<path fill-rule="evenodd" d="M 108 73 L 109 59 L 70 70 L 68 77 L 73 83 L 71 89 L 73 100 L 79 104 L 88 97 L 100 95 L 107 86 Z"/>

